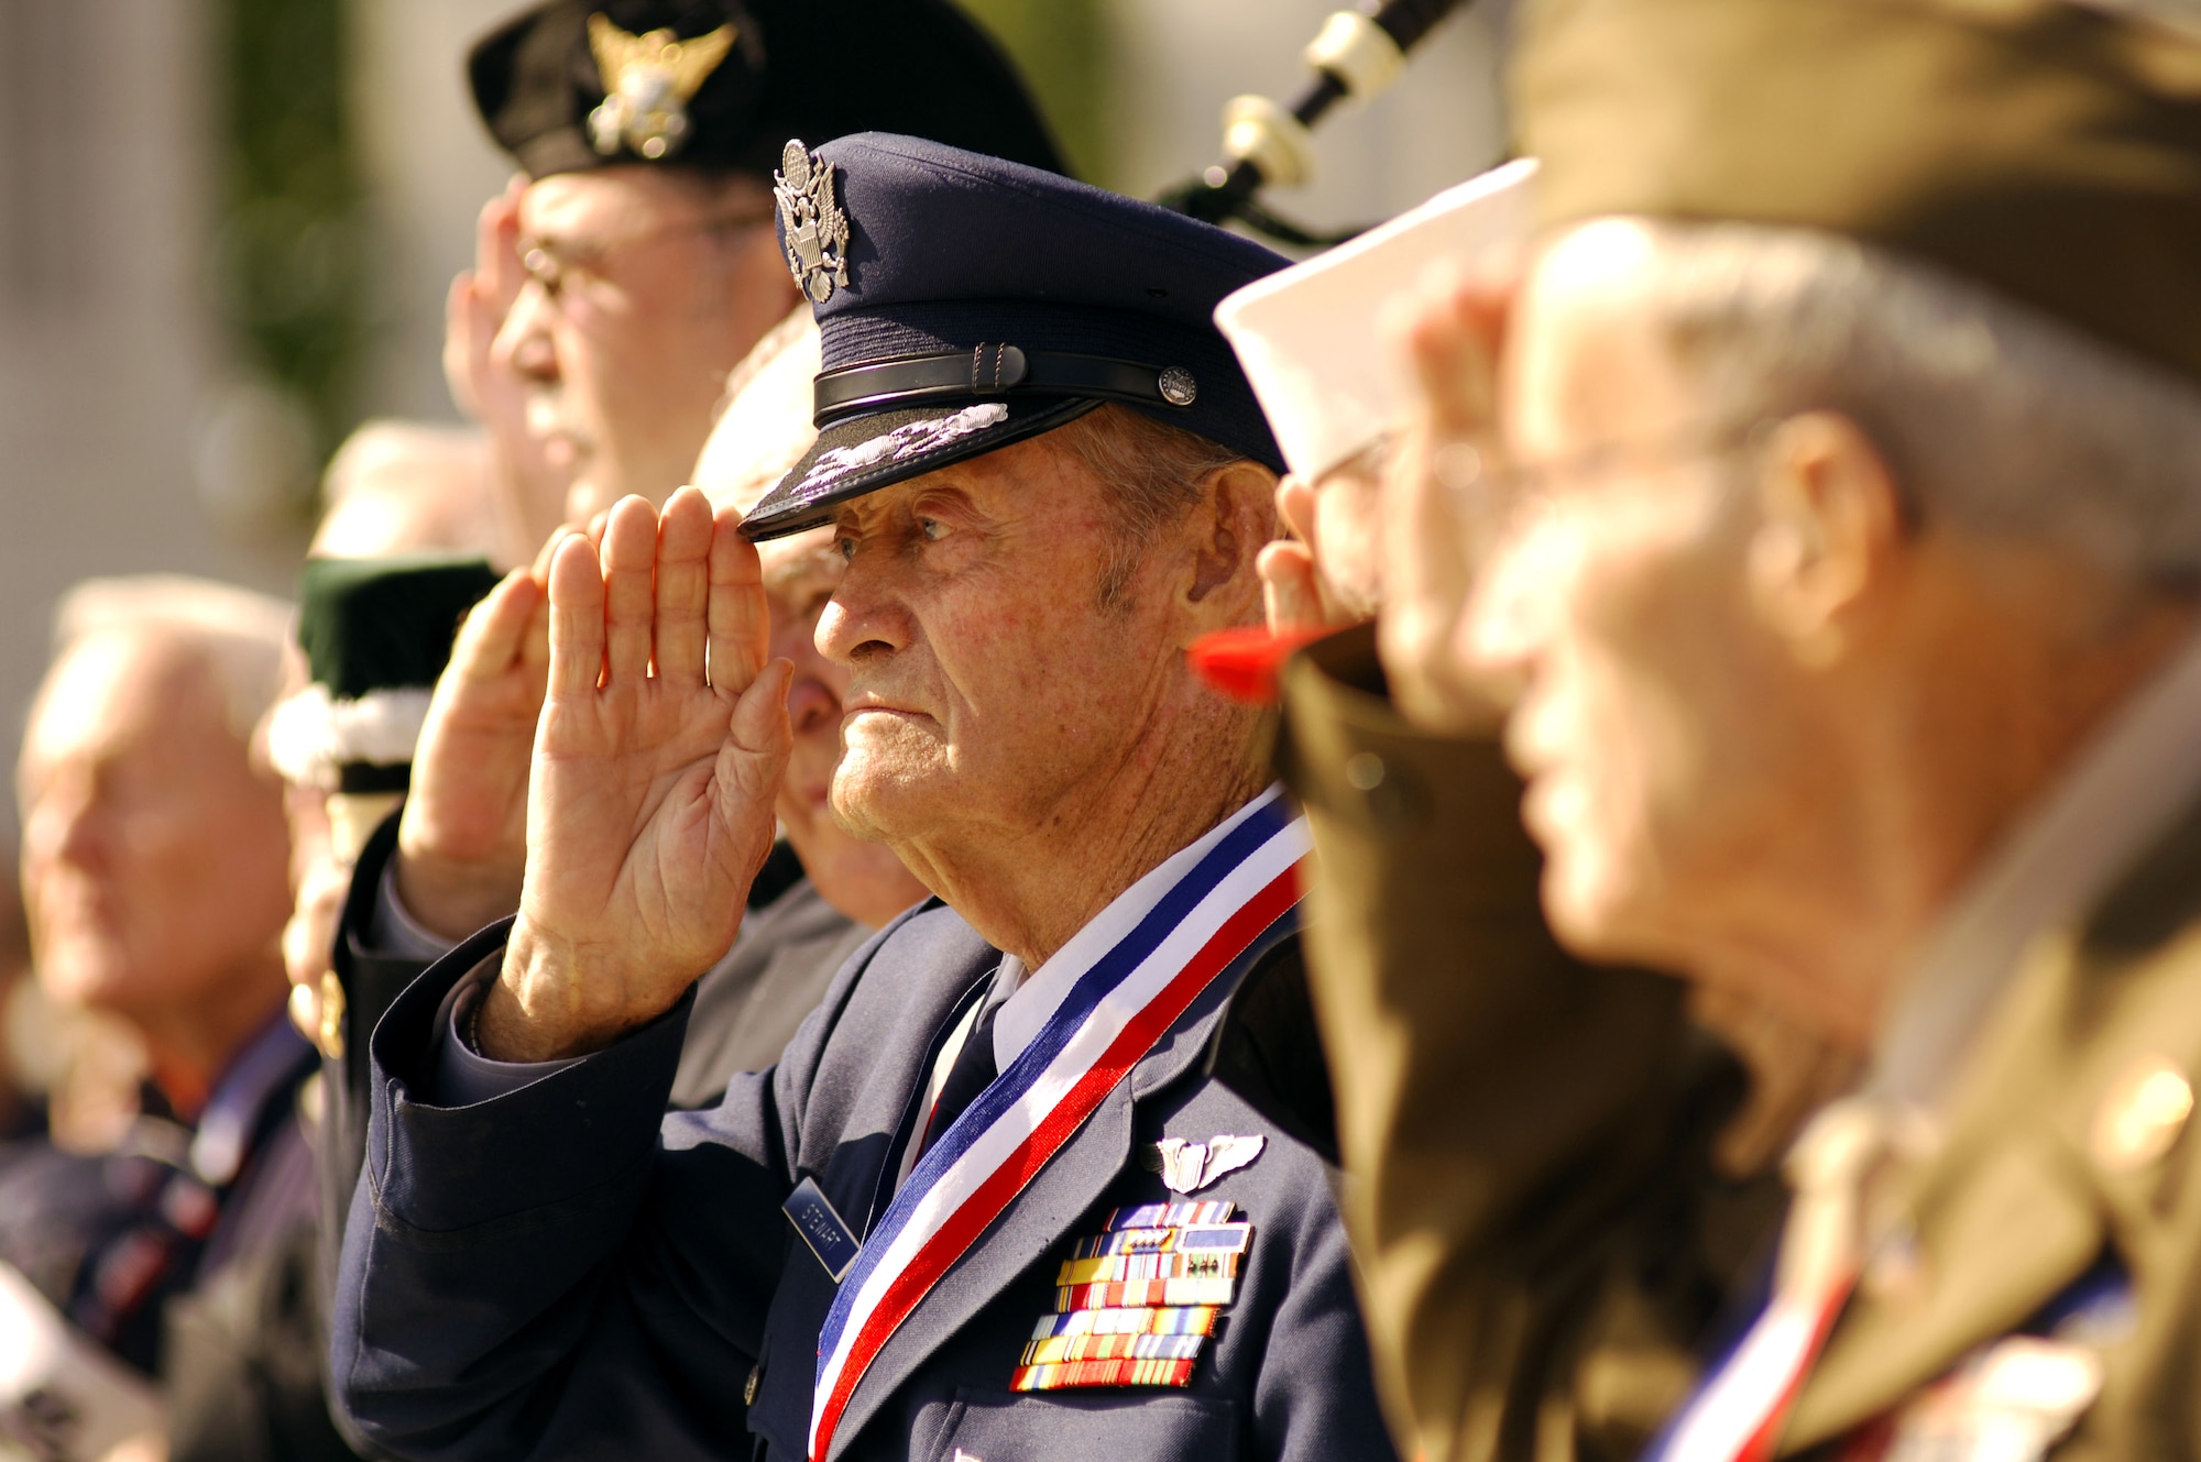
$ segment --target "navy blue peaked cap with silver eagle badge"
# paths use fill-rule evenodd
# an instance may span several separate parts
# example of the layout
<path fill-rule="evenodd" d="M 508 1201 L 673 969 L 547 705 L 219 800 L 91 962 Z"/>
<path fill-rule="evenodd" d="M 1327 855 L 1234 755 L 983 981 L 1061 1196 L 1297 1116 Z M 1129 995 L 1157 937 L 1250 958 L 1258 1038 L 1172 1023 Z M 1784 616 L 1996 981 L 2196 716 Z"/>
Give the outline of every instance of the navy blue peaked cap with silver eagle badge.
<path fill-rule="evenodd" d="M 1283 456 L 1215 304 L 1288 260 L 1151 203 L 916 137 L 865 132 L 775 178 L 819 321 L 819 440 L 742 522 L 751 539 L 1118 401 Z"/>

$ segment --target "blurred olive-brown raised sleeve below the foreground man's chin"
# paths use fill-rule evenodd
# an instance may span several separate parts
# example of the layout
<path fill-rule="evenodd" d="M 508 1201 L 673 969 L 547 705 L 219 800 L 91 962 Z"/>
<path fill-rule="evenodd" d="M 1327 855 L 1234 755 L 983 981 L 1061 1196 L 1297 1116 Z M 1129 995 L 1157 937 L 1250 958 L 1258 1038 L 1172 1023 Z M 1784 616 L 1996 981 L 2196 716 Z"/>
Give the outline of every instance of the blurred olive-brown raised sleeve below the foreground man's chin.
<path fill-rule="evenodd" d="M 1748 1257 L 1710 1134 L 1741 1077 L 1677 984 L 1594 969 L 1543 923 L 1497 744 L 1424 738 L 1369 632 L 1285 676 L 1314 828 L 1307 964 L 1332 1063 L 1384 1407 L 1406 1455 L 1635 1455 Z"/>

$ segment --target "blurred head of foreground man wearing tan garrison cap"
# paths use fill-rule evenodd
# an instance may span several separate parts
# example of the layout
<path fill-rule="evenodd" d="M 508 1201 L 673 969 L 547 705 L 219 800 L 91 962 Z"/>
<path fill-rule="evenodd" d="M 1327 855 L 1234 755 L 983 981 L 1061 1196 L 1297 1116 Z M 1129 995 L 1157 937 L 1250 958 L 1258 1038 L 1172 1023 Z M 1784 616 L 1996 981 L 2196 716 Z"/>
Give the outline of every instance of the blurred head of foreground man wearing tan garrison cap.
<path fill-rule="evenodd" d="M 2201 46 L 2104 13 L 2122 59 L 2091 66 L 2025 7 L 1809 9 L 1598 0 L 1516 62 L 1552 227 L 1516 291 L 1455 284 L 1413 328 L 1431 471 L 1387 506 L 1450 515 L 1422 583 L 1464 592 L 1387 650 L 1519 691 L 1565 938 L 1864 1050 L 2192 636 L 2201 103 L 2175 77 Z M 1888 55 L 1899 126 L 1829 130 Z M 1992 112 L 1917 81 L 1990 64 Z"/>

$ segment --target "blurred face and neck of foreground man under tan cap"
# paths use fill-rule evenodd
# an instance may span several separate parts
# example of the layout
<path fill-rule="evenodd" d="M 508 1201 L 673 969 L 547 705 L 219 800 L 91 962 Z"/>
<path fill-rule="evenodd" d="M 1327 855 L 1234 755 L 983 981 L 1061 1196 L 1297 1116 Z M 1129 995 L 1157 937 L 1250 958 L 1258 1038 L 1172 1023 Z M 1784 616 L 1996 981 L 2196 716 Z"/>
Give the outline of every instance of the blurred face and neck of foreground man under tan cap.
<path fill-rule="evenodd" d="M 2054 531 L 1919 513 L 1842 412 L 1715 425 L 1657 324 L 1657 247 L 1585 225 L 1514 297 L 1521 471 L 1455 473 L 1479 572 L 1428 658 L 1519 687 L 1508 751 L 1572 945 L 1866 1048 L 1906 956 L 2194 610 Z M 1431 319 L 1415 348 L 1442 352 Z"/>

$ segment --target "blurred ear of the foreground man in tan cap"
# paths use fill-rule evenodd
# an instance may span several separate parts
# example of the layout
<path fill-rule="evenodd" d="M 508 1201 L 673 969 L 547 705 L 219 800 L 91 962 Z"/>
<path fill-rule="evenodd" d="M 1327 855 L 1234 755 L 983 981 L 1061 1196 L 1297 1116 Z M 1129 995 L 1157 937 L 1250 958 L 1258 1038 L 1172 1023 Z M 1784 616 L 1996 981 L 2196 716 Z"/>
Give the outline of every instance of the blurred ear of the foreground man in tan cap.
<path fill-rule="evenodd" d="M 1783 421 L 1756 451 L 1750 597 L 1811 667 L 1833 665 L 1877 610 L 1904 550 L 1895 471 L 1838 412 Z"/>

